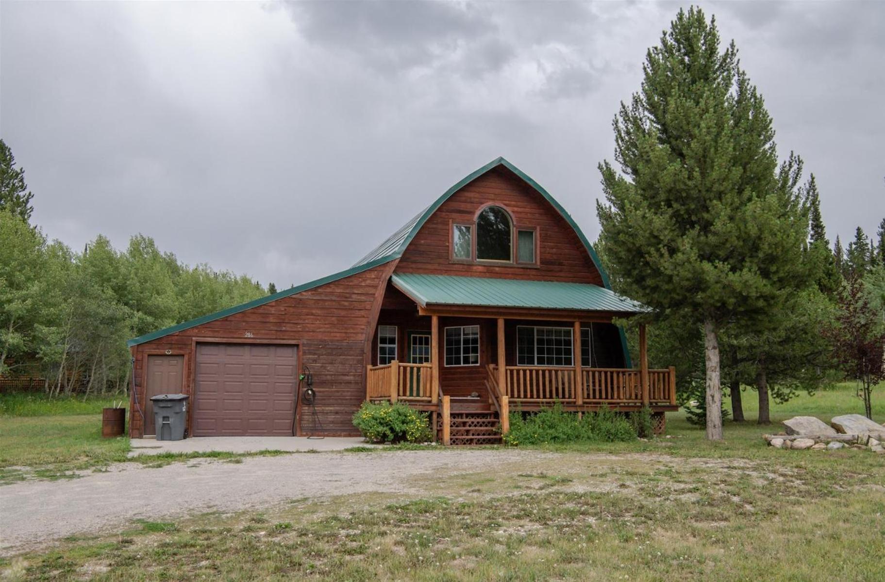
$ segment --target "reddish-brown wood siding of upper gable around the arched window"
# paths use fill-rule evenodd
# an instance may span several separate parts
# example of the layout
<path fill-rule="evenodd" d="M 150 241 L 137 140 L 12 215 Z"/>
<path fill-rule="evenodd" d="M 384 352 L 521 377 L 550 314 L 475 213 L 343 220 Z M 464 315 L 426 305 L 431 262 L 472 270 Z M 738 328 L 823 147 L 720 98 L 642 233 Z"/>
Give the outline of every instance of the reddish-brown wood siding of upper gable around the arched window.
<path fill-rule="evenodd" d="M 538 228 L 539 266 L 471 264 L 450 259 L 451 224 L 473 223 L 476 212 L 488 203 L 499 203 L 510 211 L 515 227 Z M 502 167 L 451 195 L 421 226 L 396 271 L 603 284 L 573 228 L 534 188 Z"/>

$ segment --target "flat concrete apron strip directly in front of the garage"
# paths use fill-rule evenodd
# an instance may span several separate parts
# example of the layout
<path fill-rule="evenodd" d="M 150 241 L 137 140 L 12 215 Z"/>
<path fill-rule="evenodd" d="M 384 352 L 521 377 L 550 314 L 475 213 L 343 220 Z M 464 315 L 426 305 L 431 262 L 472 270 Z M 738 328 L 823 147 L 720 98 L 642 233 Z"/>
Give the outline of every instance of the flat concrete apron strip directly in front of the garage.
<path fill-rule="evenodd" d="M 350 447 L 377 447 L 362 437 L 192 437 L 184 440 L 132 439 L 129 456 L 161 455 L 163 453 L 256 453 L 262 450 L 290 452 L 335 451 Z"/>

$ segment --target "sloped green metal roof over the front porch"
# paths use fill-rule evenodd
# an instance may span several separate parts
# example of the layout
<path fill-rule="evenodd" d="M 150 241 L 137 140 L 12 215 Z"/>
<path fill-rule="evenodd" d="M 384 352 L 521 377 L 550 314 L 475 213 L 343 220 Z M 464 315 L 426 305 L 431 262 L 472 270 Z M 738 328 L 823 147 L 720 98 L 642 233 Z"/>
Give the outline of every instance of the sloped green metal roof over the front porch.
<path fill-rule="evenodd" d="M 395 272 L 390 280 L 420 307 L 478 305 L 624 314 L 650 310 L 642 303 L 617 295 L 610 289 L 584 283 L 424 275 L 412 272 Z"/>

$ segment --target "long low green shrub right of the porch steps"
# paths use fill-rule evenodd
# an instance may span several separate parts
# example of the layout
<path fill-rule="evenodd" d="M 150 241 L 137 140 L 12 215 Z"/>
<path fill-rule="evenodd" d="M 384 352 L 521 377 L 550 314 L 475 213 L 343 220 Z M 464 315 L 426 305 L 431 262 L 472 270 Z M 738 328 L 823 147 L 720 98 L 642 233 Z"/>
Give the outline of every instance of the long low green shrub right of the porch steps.
<path fill-rule="evenodd" d="M 541 445 L 565 442 L 614 442 L 635 440 L 636 431 L 627 417 L 609 409 L 587 412 L 582 418 L 562 410 L 560 404 L 525 418 L 519 412 L 510 415 L 510 432 L 504 444 Z"/>

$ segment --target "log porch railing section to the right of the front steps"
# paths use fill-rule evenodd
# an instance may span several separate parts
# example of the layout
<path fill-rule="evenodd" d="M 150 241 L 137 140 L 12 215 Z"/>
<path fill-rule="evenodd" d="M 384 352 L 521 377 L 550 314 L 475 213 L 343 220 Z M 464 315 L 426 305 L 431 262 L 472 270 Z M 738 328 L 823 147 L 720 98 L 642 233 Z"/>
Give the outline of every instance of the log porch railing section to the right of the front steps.
<path fill-rule="evenodd" d="M 590 406 L 643 406 L 676 404 L 676 374 L 673 368 L 648 371 L 648 397 L 643 396 L 643 373 L 625 368 L 581 368 L 578 371 L 554 366 L 505 366 L 505 386 L 498 387 L 497 366 L 489 364 L 489 386 L 510 402 L 526 404 L 587 404 Z M 579 400 L 580 396 L 580 400 Z"/>

